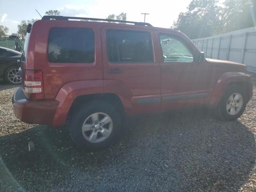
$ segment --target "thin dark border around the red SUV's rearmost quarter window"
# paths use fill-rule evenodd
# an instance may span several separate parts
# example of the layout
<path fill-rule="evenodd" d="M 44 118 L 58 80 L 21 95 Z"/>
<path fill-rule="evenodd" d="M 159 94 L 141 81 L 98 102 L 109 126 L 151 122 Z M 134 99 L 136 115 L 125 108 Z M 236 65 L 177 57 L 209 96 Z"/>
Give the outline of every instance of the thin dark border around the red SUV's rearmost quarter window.
<path fill-rule="evenodd" d="M 93 45 L 94 45 L 94 58 L 93 58 L 93 62 L 50 62 L 49 61 L 49 58 L 48 58 L 48 55 L 49 55 L 49 40 L 50 40 L 50 32 L 52 31 L 52 29 L 58 29 L 58 28 L 68 28 L 68 29 L 89 29 L 89 30 L 92 30 L 93 32 Z M 69 63 L 74 63 L 74 64 L 92 64 L 92 63 L 95 63 L 95 55 L 96 55 L 96 51 L 95 51 L 95 32 L 94 32 L 94 29 L 93 28 L 86 28 L 86 27 L 52 27 L 50 28 L 49 32 L 48 32 L 48 40 L 47 40 L 47 49 L 46 49 L 46 60 L 50 63 L 50 64 L 69 64 Z M 26 59 L 25 59 L 26 60 Z"/>

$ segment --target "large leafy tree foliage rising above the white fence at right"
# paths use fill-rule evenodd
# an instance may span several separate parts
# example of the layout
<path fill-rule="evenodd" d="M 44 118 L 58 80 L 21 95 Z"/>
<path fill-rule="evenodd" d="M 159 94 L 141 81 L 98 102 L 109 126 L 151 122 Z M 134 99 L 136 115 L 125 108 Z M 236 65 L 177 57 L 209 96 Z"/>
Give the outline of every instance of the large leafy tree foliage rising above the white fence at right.
<path fill-rule="evenodd" d="M 192 0 L 173 26 L 189 38 L 201 38 L 256 26 L 256 0 Z"/>

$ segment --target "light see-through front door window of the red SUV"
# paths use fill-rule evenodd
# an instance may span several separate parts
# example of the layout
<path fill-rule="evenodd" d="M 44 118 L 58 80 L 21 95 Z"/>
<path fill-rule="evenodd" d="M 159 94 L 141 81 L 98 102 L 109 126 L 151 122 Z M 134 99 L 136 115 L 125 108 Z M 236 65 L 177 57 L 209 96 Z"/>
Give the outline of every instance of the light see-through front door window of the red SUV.
<path fill-rule="evenodd" d="M 193 62 L 190 51 L 171 35 L 159 35 L 164 62 Z"/>

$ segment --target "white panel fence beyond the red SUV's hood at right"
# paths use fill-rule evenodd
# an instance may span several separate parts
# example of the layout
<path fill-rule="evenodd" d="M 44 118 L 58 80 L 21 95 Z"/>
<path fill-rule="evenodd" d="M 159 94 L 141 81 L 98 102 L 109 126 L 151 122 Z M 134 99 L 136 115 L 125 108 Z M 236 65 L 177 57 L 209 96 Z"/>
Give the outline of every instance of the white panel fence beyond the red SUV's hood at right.
<path fill-rule="evenodd" d="M 193 39 L 192 42 L 206 58 L 243 63 L 248 71 L 256 73 L 256 27 Z"/>

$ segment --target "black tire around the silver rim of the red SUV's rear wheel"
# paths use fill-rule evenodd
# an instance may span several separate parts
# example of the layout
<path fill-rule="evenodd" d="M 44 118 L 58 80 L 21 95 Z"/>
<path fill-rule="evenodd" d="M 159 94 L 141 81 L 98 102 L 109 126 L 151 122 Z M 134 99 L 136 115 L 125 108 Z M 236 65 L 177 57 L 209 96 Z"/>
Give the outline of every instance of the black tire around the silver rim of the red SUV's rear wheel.
<path fill-rule="evenodd" d="M 112 119 L 113 128 L 110 136 L 106 138 L 106 140 L 99 143 L 91 143 L 84 138 L 82 134 L 82 125 L 88 116 L 96 112 L 108 114 Z M 121 118 L 118 111 L 115 110 L 114 106 L 104 101 L 92 101 L 87 105 L 79 108 L 77 112 L 72 116 L 69 131 L 72 140 L 76 143 L 77 146 L 86 150 L 97 150 L 106 148 L 116 141 L 118 135 L 120 134 L 120 124 Z"/>

